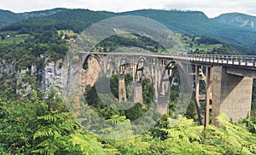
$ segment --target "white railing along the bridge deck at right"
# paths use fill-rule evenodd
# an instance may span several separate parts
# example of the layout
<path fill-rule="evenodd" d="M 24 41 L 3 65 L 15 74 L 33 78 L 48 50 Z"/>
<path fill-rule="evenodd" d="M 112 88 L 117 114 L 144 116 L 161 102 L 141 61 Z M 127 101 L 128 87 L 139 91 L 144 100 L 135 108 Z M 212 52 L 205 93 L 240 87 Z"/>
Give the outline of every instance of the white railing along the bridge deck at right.
<path fill-rule="evenodd" d="M 256 66 L 255 55 L 172 55 L 173 58 L 232 66 Z"/>

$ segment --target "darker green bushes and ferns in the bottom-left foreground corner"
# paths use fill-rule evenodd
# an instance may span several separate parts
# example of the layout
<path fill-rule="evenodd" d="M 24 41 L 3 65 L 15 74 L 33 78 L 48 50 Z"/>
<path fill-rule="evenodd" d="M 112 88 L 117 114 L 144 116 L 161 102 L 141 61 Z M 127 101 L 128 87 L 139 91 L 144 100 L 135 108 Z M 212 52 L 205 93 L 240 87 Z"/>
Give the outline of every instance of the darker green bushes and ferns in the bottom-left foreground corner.
<path fill-rule="evenodd" d="M 71 134 L 79 133 L 55 92 L 47 100 L 40 100 L 35 91 L 24 100 L 0 100 L 0 108 L 2 152 L 55 154 L 68 148 Z"/>

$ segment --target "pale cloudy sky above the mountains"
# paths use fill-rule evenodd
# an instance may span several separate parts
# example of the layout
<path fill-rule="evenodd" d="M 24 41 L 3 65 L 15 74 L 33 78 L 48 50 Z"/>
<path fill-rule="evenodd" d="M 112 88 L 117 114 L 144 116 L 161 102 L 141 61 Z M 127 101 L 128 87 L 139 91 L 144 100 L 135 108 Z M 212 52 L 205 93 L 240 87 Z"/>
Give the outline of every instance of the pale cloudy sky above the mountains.
<path fill-rule="evenodd" d="M 124 12 L 136 9 L 197 10 L 216 17 L 224 13 L 256 16 L 255 0 L 0 0 L 0 9 L 15 13 L 67 8 Z"/>

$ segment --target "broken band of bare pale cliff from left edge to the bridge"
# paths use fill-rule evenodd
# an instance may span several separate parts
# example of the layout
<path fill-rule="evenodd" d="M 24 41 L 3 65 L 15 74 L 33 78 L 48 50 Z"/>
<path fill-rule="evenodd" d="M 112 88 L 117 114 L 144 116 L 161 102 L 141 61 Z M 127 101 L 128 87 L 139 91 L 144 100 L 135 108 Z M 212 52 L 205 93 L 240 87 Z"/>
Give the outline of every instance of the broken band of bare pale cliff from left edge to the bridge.
<path fill-rule="evenodd" d="M 62 64 L 64 64 L 63 60 L 56 60 L 48 62 L 44 68 L 42 68 L 40 74 L 42 74 L 42 88 L 44 89 L 45 95 L 49 93 L 50 88 L 55 89 L 60 94 L 63 93 L 63 91 L 67 89 L 68 74 L 72 74 L 74 70 L 77 71 L 75 76 L 73 76 L 73 78 L 76 79 L 72 80 L 78 80 L 76 83 L 79 85 L 77 85 L 76 88 L 82 90 L 84 90 L 87 85 L 93 86 L 101 72 L 101 67 L 98 61 L 94 58 L 88 60 L 88 69 L 86 70 L 82 68 L 81 64 L 73 64 L 73 66 L 70 66 L 69 68 L 63 67 Z M 37 71 L 37 66 L 32 66 L 31 68 L 26 68 L 17 72 L 15 80 L 17 80 L 17 83 L 19 83 L 22 88 L 26 88 L 16 90 L 17 94 L 22 94 L 22 96 L 25 96 L 27 92 L 31 90 L 30 85 L 28 85 L 28 83 L 23 83 L 22 80 L 22 75 L 26 74 L 26 72 L 31 72 L 31 75 L 33 76 L 37 75 L 39 71 Z M 15 66 L 13 64 L 7 64 L 5 61 L 0 62 L 0 78 L 3 77 L 3 75 L 13 75 L 14 73 Z M 21 93 L 23 91 L 24 93 Z"/>

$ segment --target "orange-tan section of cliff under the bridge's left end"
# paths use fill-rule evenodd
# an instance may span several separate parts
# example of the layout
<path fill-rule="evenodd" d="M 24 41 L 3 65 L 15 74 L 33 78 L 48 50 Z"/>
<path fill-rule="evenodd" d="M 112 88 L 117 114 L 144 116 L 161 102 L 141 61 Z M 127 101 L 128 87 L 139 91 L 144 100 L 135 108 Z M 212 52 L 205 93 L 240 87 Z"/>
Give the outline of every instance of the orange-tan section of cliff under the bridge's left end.
<path fill-rule="evenodd" d="M 88 69 L 82 69 L 81 87 L 84 90 L 87 85 L 93 86 L 101 72 L 101 66 L 94 58 L 88 60 Z"/>

